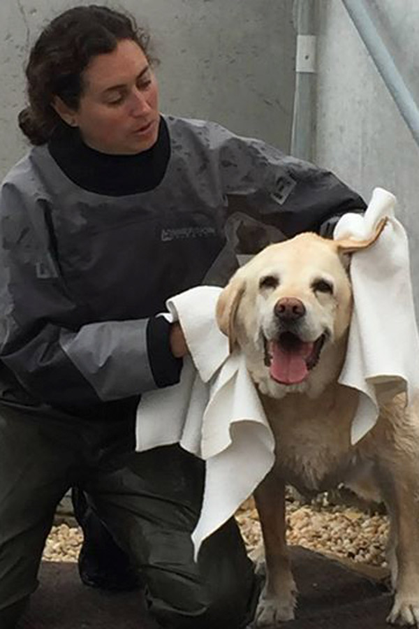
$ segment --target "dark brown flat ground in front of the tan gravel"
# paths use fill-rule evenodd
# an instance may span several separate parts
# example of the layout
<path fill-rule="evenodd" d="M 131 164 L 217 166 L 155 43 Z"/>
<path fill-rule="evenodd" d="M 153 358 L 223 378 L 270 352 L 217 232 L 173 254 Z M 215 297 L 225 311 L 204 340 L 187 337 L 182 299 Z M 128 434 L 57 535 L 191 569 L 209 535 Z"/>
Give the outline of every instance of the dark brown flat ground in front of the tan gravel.
<path fill-rule="evenodd" d="M 380 579 L 300 547 L 291 549 L 300 591 L 284 629 L 385 629 L 391 596 Z M 82 586 L 74 562 L 43 562 L 41 587 L 18 629 L 155 629 L 141 591 L 109 594 Z M 224 628 L 214 628 L 224 629 Z M 228 629 L 228 628 L 226 628 Z"/>

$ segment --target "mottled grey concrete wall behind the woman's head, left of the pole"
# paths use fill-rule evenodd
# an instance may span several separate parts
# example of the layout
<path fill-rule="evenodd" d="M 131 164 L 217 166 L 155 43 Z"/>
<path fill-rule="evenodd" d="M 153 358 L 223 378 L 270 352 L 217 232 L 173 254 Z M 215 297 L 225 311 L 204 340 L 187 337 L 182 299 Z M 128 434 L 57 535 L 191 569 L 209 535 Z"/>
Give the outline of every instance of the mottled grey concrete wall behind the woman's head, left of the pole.
<path fill-rule="evenodd" d="M 293 0 L 124 0 L 154 35 L 161 108 L 216 120 L 288 150 L 294 92 Z M 23 68 L 41 26 L 87 1 L 1 0 L 0 178 L 26 145 L 15 124 Z M 52 8 L 53 7 L 53 8 Z"/>

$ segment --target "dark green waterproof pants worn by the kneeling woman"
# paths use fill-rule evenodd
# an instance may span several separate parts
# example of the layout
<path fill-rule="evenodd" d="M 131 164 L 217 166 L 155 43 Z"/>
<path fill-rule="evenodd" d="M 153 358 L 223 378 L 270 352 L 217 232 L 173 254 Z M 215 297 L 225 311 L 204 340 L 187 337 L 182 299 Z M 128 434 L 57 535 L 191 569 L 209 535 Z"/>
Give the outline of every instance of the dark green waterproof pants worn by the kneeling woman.
<path fill-rule="evenodd" d="M 15 627 L 36 589 L 55 508 L 73 485 L 89 494 L 141 571 L 150 612 L 162 626 L 245 626 L 257 585 L 235 521 L 206 540 L 193 561 L 190 535 L 204 474 L 203 462 L 177 446 L 134 452 L 133 422 L 126 419 L 87 423 L 0 408 L 1 629 Z"/>

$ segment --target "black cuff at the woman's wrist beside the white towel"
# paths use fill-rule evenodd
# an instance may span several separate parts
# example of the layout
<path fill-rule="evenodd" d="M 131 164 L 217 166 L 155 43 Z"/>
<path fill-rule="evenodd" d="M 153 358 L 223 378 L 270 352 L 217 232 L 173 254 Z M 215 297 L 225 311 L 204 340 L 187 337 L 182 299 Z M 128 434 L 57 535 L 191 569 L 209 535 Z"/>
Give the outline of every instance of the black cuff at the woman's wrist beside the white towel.
<path fill-rule="evenodd" d="M 151 317 L 147 324 L 149 364 L 159 388 L 177 384 L 183 365 L 170 351 L 170 326 L 164 317 Z"/>

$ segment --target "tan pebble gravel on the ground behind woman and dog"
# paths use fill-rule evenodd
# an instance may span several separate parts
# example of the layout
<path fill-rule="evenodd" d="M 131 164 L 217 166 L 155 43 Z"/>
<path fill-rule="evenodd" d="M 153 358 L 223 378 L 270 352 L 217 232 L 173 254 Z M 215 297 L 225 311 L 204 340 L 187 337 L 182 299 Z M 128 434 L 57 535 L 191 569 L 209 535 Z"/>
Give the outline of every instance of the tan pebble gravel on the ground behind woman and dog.
<path fill-rule="evenodd" d="M 237 521 L 249 551 L 260 543 L 258 513 L 249 498 L 237 511 Z M 330 505 L 325 496 L 304 504 L 290 495 L 287 499 L 288 543 L 332 554 L 364 564 L 385 565 L 388 520 L 357 507 Z M 47 538 L 44 559 L 77 561 L 82 543 L 80 528 L 61 523 Z"/>

